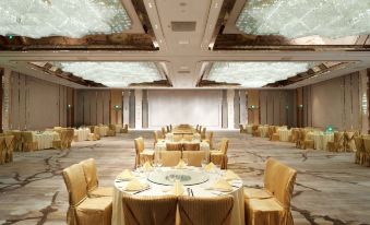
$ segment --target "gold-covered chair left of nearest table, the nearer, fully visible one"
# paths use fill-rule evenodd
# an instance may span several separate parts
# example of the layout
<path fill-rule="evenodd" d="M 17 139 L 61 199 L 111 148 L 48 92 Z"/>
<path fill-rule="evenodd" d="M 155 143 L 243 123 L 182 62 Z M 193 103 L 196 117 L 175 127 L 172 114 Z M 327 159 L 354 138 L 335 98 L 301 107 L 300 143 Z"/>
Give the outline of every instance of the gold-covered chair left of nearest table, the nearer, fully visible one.
<path fill-rule="evenodd" d="M 63 179 L 69 194 L 67 223 L 69 225 L 110 225 L 111 197 L 88 198 L 87 183 L 81 164 L 63 169 Z"/>

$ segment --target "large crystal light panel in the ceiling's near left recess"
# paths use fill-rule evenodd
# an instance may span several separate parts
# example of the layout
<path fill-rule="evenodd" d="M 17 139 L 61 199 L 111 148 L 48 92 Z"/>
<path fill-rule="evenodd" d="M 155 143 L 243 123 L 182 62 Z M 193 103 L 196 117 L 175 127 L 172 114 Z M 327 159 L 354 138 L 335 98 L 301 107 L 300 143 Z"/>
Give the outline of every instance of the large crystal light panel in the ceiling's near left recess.
<path fill-rule="evenodd" d="M 32 38 L 115 34 L 131 27 L 120 0 L 0 1 L 0 35 Z"/>

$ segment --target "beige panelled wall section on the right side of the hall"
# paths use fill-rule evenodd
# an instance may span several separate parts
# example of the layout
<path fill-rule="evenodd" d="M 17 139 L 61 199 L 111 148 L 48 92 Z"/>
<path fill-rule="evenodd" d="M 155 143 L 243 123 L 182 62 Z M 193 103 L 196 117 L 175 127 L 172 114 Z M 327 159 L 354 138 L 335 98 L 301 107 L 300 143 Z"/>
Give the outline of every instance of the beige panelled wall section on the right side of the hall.
<path fill-rule="evenodd" d="M 348 74 L 305 87 L 306 126 L 338 130 L 360 129 L 361 111 L 358 73 Z M 303 90 L 303 96 L 305 96 Z"/>

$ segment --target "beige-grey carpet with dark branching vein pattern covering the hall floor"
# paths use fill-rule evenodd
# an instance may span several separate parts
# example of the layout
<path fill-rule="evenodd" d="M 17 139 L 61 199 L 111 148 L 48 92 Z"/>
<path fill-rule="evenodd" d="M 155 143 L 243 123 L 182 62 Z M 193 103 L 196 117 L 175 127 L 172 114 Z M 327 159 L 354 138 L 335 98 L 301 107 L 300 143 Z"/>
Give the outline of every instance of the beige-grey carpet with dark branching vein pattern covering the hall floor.
<path fill-rule="evenodd" d="M 12 164 L 0 165 L 0 224 L 65 224 L 68 196 L 60 171 L 94 157 L 100 186 L 134 163 L 133 139 L 152 133 L 133 131 L 97 142 L 77 142 L 69 151 L 15 153 Z M 264 161 L 271 156 L 298 170 L 293 199 L 295 224 L 370 224 L 370 167 L 354 164 L 353 153 L 297 150 L 291 143 L 270 142 L 236 131 L 215 133 L 230 139 L 229 168 L 246 187 L 262 187 Z"/>

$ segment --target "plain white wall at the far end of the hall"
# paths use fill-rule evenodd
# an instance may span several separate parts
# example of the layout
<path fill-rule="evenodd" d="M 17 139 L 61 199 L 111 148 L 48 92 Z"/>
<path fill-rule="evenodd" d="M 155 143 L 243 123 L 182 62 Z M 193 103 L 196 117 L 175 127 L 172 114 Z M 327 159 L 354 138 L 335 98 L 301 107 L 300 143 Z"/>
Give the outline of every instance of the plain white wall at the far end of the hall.
<path fill-rule="evenodd" d="M 148 127 L 166 125 L 222 127 L 222 91 L 148 91 Z"/>

